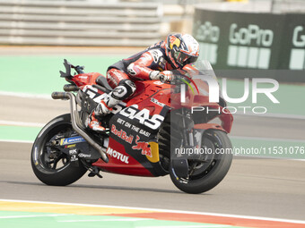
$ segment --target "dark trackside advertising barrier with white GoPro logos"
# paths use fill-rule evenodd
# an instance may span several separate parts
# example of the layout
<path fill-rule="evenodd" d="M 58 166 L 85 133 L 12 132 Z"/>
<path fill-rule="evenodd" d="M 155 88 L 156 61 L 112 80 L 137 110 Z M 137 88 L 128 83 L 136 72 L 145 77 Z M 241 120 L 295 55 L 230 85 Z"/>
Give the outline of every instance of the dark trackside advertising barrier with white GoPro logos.
<path fill-rule="evenodd" d="M 276 80 L 305 82 L 304 21 L 304 13 L 222 12 L 197 7 L 193 34 L 200 43 L 201 57 L 216 70 L 234 70 L 226 71 L 232 78 L 250 76 L 235 70 L 259 70 L 262 77 L 267 73 Z"/>

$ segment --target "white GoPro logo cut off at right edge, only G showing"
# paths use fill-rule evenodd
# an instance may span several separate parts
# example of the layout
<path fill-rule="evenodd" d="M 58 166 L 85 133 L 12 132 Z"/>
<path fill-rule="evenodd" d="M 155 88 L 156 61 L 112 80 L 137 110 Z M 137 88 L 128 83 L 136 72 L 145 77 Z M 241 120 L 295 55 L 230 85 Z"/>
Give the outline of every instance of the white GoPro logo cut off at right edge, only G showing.
<path fill-rule="evenodd" d="M 305 28 L 304 26 L 296 26 L 292 35 L 292 51 L 290 56 L 290 70 L 305 69 Z"/>

